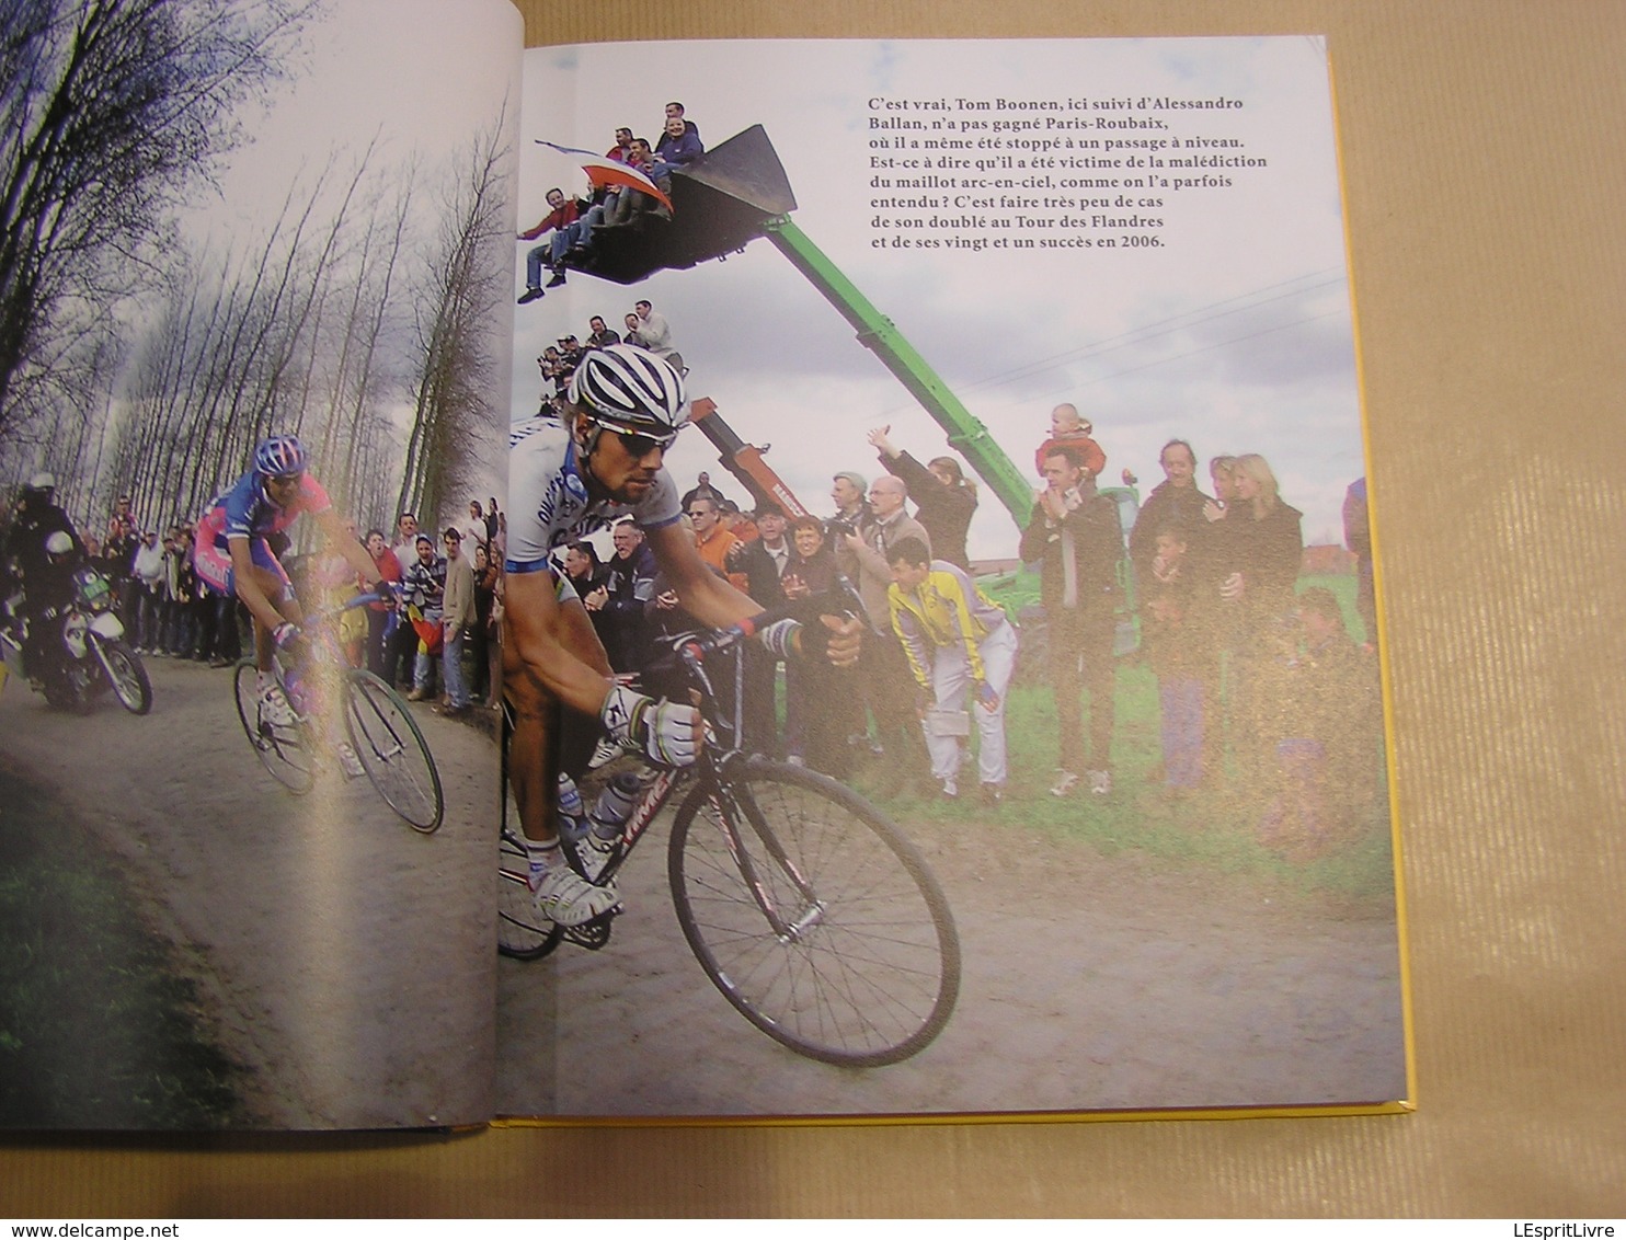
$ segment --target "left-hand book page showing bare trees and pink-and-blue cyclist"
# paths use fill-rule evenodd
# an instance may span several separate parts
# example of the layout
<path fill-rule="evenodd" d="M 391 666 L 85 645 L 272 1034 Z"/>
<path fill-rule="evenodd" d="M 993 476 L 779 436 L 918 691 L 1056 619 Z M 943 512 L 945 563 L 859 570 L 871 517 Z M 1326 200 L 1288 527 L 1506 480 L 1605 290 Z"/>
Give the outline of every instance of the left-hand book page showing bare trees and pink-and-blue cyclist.
<path fill-rule="evenodd" d="M 496 712 L 459 561 L 501 496 L 517 16 L 55 8 L 0 140 L 15 167 L 80 101 L 72 189 L 7 195 L 37 229 L 3 284 L 0 1125 L 483 1121 Z M 403 510 L 431 585 L 315 621 L 420 559 Z"/>

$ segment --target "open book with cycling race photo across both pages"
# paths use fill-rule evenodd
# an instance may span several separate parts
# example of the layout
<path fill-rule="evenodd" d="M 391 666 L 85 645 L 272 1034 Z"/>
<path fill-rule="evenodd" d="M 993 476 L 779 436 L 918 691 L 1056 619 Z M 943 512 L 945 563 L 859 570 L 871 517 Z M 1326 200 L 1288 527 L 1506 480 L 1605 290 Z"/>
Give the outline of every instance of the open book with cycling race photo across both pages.
<path fill-rule="evenodd" d="M 1324 41 L 164 23 L 0 221 L 0 1123 L 1406 1107 Z"/>

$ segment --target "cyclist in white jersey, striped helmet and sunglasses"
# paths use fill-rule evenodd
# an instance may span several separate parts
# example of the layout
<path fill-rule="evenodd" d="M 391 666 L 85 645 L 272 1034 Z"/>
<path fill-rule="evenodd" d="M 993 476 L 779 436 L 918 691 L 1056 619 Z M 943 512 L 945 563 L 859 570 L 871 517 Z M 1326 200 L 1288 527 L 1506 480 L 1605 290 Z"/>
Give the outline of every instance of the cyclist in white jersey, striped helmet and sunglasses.
<path fill-rule="evenodd" d="M 509 774 L 537 908 L 576 926 L 613 912 L 620 900 L 613 886 L 587 882 L 561 856 L 551 803 L 559 707 L 598 718 L 611 739 L 668 765 L 694 762 L 704 733 L 693 705 L 657 702 L 616 683 L 587 609 L 548 553 L 631 515 L 701 624 L 720 629 L 763 609 L 711 572 L 678 523 L 678 491 L 662 468 L 689 419 L 678 372 L 634 345 L 590 349 L 567 401 L 563 419 L 532 418 L 509 436 L 502 665 L 514 707 Z M 802 655 L 806 640 L 849 666 L 857 661 L 860 627 L 854 618 L 826 616 L 823 632 L 805 632 L 787 619 L 767 624 L 759 637 L 780 657 Z"/>

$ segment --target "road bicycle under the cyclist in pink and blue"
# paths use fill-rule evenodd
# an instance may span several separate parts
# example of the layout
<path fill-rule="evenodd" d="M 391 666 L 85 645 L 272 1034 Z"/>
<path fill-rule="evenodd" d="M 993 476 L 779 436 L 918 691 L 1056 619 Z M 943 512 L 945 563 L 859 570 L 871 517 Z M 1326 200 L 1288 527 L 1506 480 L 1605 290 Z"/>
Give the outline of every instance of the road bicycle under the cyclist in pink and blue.
<path fill-rule="evenodd" d="M 384 598 L 363 593 L 309 616 L 299 626 L 304 639 L 301 653 L 289 658 L 286 652 L 278 652 L 273 661 L 276 691 L 289 704 L 291 725 L 278 725 L 267 715 L 255 691 L 254 660 L 241 661 L 236 676 L 237 718 L 272 777 L 291 793 L 302 795 L 337 761 L 337 738 L 327 710 L 327 704 L 337 700 L 345 738 L 367 780 L 406 826 L 428 835 L 446 814 L 434 756 L 400 694 L 371 671 L 350 666 L 338 644 L 338 616 Z M 289 673 L 298 686 L 293 692 Z M 294 709 L 296 702 L 304 709 Z"/>

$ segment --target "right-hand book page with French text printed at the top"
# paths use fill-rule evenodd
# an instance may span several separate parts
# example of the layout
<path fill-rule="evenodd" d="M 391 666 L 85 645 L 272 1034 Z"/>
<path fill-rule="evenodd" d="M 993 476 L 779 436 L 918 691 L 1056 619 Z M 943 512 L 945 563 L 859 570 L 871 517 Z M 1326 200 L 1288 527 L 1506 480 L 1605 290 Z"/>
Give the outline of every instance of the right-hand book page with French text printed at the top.
<path fill-rule="evenodd" d="M 707 661 L 714 743 L 772 764 L 634 783 L 608 941 L 543 921 L 499 967 L 499 1110 L 1408 1097 L 1324 42 L 592 46 L 525 80 L 514 419 L 590 335 L 647 345 L 694 400 L 663 468 L 701 557 L 815 626 L 844 577 L 867 622 L 857 668 Z M 621 127 L 670 137 L 662 193 L 603 171 Z M 554 249 L 551 189 L 600 228 Z M 618 619 L 634 553 L 592 546 L 559 572 L 613 666 L 685 700 L 652 666 L 685 600 Z M 636 764 L 576 748 L 590 809 Z"/>

